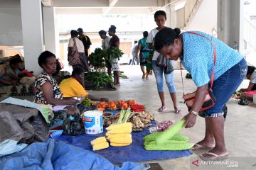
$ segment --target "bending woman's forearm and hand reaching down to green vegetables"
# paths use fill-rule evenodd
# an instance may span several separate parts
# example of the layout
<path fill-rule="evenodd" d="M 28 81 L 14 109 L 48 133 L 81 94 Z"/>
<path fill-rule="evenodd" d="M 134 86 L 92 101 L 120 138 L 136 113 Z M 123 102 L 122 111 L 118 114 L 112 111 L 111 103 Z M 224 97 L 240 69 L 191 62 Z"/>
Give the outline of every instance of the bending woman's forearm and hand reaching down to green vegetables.
<path fill-rule="evenodd" d="M 196 97 L 193 102 L 193 106 L 191 108 L 191 111 L 194 111 L 198 113 L 203 106 L 203 102 L 206 98 L 206 92 L 208 90 L 208 84 L 205 84 L 203 86 L 200 86 L 196 89 Z M 188 113 L 183 117 L 183 119 L 186 120 L 184 127 L 185 128 L 191 128 L 196 123 L 196 115 L 193 113 Z"/>

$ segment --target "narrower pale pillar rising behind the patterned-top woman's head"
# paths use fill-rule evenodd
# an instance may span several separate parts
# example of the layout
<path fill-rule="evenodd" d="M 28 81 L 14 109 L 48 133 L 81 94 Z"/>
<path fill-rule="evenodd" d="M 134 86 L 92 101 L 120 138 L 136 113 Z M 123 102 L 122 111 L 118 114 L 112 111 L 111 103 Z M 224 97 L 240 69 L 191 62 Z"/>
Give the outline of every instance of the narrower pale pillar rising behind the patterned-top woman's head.
<path fill-rule="evenodd" d="M 59 35 L 57 17 L 53 6 L 43 6 L 43 35 L 45 49 L 53 52 L 56 57 L 60 56 Z"/>

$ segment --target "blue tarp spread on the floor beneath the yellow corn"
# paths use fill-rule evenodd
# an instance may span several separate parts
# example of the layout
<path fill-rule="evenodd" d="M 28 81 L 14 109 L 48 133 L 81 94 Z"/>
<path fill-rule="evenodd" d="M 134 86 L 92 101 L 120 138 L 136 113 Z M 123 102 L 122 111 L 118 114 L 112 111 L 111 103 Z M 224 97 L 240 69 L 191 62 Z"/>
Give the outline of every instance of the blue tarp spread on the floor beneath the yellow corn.
<path fill-rule="evenodd" d="M 156 123 L 153 122 L 155 125 Z M 65 142 L 70 145 L 82 147 L 83 149 L 92 151 L 90 141 L 97 137 L 105 135 L 106 130 L 102 134 L 97 135 L 79 135 L 79 136 L 65 136 L 61 135 L 55 137 L 56 140 Z M 149 128 L 146 128 L 142 132 L 132 132 L 132 144 L 127 147 L 108 147 L 99 151 L 92 151 L 96 154 L 100 154 L 108 159 L 113 164 L 122 162 L 142 162 L 153 159 L 175 159 L 178 157 L 188 157 L 192 154 L 190 150 L 182 151 L 146 151 L 144 149 L 143 137 L 149 134 Z"/>

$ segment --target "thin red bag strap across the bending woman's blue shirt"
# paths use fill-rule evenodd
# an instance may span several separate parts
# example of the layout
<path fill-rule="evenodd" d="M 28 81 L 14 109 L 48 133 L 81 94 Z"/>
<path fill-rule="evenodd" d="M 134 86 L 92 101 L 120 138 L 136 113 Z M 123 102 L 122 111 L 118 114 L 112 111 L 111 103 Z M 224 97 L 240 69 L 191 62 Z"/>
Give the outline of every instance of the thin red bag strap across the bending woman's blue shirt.
<path fill-rule="evenodd" d="M 186 33 L 191 33 L 191 34 L 194 34 L 194 35 L 199 35 L 201 37 L 204 37 L 204 38 L 208 39 L 210 41 L 210 43 L 212 44 L 212 46 L 213 46 L 213 72 L 212 72 L 211 77 L 210 77 L 210 91 L 212 91 L 213 79 L 214 79 L 214 73 L 215 73 L 215 62 L 216 62 L 216 48 L 215 48 L 215 45 L 214 45 L 213 41 L 211 41 L 210 38 L 206 37 L 205 35 L 201 35 L 201 34 L 193 32 L 193 31 L 188 31 Z M 180 66 L 181 66 L 181 60 L 180 60 Z M 181 80 L 182 80 L 182 89 L 183 89 L 183 96 L 184 96 L 185 94 L 184 94 L 184 84 L 183 84 L 182 71 L 181 71 Z"/>

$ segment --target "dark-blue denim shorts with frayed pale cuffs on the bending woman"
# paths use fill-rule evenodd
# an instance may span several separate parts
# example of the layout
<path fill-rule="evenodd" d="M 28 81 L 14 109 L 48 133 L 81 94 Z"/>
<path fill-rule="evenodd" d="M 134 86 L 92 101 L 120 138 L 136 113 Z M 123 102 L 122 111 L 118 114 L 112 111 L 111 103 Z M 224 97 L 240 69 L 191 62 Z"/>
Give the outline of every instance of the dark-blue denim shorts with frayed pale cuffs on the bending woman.
<path fill-rule="evenodd" d="M 223 115 L 223 106 L 228 102 L 230 96 L 232 96 L 236 89 L 238 89 L 243 79 L 245 79 L 246 73 L 247 63 L 245 59 L 242 59 L 238 64 L 235 64 L 227 72 L 218 77 L 218 79 L 213 81 L 213 94 L 216 98 L 216 103 L 213 107 L 205 111 L 206 117 Z"/>

